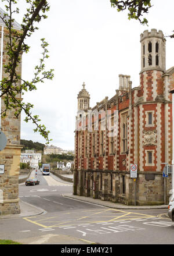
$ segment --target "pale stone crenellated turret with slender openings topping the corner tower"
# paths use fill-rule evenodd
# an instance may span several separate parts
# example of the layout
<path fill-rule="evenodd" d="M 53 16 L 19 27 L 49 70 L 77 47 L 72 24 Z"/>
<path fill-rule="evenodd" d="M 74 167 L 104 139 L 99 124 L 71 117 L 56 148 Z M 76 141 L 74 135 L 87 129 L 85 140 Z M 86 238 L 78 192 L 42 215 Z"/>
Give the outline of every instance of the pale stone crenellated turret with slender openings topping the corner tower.
<path fill-rule="evenodd" d="M 140 35 L 142 48 L 141 72 L 145 70 L 161 70 L 165 72 L 165 38 L 161 30 L 145 30 Z"/>

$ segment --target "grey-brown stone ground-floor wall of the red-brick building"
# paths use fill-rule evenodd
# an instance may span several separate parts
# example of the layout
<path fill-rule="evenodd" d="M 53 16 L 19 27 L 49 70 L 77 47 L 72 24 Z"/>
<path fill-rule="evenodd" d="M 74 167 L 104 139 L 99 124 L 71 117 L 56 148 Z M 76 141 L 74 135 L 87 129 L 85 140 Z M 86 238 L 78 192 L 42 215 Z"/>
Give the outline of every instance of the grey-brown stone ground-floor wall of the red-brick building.
<path fill-rule="evenodd" d="M 125 177 L 125 187 L 123 187 L 122 176 Z M 124 172 L 74 170 L 73 191 L 77 195 L 120 202 L 125 205 L 134 205 L 135 201 L 136 205 L 162 205 L 165 202 L 165 179 L 166 204 L 168 204 L 171 196 L 171 175 L 164 178 L 162 173 L 156 172 L 139 172 L 135 182 L 129 173 Z"/>

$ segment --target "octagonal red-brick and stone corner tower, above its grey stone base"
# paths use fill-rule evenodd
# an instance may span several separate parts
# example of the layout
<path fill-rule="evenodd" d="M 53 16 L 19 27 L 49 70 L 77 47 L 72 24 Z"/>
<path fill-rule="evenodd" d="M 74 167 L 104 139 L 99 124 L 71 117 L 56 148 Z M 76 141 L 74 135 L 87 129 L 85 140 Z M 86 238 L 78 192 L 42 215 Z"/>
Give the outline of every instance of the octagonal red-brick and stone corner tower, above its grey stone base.
<path fill-rule="evenodd" d="M 139 169 L 161 172 L 162 163 L 171 163 L 171 99 L 165 64 L 165 38 L 161 30 L 140 35 L 141 71 L 137 93 L 139 126 Z M 164 154 L 165 152 L 165 154 Z"/>

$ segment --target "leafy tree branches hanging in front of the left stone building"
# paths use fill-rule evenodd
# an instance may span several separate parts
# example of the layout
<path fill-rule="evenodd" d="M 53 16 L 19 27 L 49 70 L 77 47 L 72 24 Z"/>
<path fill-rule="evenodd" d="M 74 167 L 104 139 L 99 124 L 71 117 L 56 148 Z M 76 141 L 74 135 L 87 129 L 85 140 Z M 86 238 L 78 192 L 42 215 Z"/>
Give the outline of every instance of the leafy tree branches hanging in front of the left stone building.
<path fill-rule="evenodd" d="M 41 22 L 42 19 L 46 19 L 46 12 L 49 11 L 49 4 L 46 0 L 26 0 L 27 12 L 23 16 L 23 22 L 21 24 L 21 30 L 17 31 L 13 29 L 14 13 L 19 13 L 19 8 L 15 8 L 16 0 L 2 0 L 6 2 L 6 13 L 3 16 L 0 15 L 0 19 L 5 23 L 5 27 L 8 29 L 8 33 L 5 35 L 8 38 L 6 43 L 6 54 L 8 55 L 8 64 L 3 65 L 6 77 L 0 81 L 0 98 L 5 96 L 4 104 L 5 108 L 1 112 L 2 118 L 7 115 L 10 109 L 15 109 L 14 115 L 19 117 L 21 111 L 26 114 L 25 122 L 29 120 L 35 125 L 35 132 L 39 132 L 46 140 L 46 144 L 49 144 L 49 130 L 46 130 L 45 125 L 41 125 L 38 115 L 32 115 L 32 108 L 34 107 L 30 103 L 22 102 L 18 95 L 24 95 L 27 91 L 37 90 L 38 83 L 44 83 L 45 79 L 53 79 L 53 69 L 45 71 L 45 60 L 48 56 L 48 43 L 45 38 L 41 39 L 42 57 L 39 65 L 35 66 L 34 77 L 31 81 L 25 81 L 17 73 L 17 67 L 21 62 L 21 55 L 25 52 L 29 52 L 30 46 L 27 45 L 26 39 L 31 37 L 32 33 L 38 30 L 35 24 Z"/>

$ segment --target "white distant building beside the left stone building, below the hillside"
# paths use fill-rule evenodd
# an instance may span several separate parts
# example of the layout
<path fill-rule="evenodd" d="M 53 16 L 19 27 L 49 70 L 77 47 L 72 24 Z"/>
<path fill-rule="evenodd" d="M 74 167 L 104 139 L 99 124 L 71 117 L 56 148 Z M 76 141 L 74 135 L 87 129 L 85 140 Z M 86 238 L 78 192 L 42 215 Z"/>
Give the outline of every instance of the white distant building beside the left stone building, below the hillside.
<path fill-rule="evenodd" d="M 30 163 L 30 167 L 34 169 L 39 168 L 39 163 L 42 161 L 42 153 L 35 153 L 35 150 L 26 150 L 25 153 L 21 153 L 20 162 Z"/>

